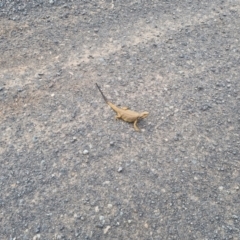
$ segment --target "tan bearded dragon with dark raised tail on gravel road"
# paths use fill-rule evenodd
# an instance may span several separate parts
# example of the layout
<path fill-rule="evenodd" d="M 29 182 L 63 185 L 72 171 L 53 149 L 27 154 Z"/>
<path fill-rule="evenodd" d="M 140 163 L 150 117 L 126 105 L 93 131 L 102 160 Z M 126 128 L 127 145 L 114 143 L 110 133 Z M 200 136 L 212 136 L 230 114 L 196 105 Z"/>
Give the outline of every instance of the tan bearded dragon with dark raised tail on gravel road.
<path fill-rule="evenodd" d="M 98 90 L 100 91 L 100 93 L 102 94 L 104 101 L 117 113 L 115 118 L 122 119 L 125 122 L 134 123 L 133 124 L 134 129 L 136 131 L 139 131 L 139 128 L 137 127 L 138 120 L 147 117 L 149 113 L 148 112 L 138 113 L 138 112 L 129 110 L 127 107 L 122 107 L 122 108 L 117 107 L 116 105 L 114 105 L 113 103 L 108 101 L 108 99 L 104 96 L 101 88 L 98 86 L 97 83 L 96 83 L 96 86 L 97 86 Z"/>

